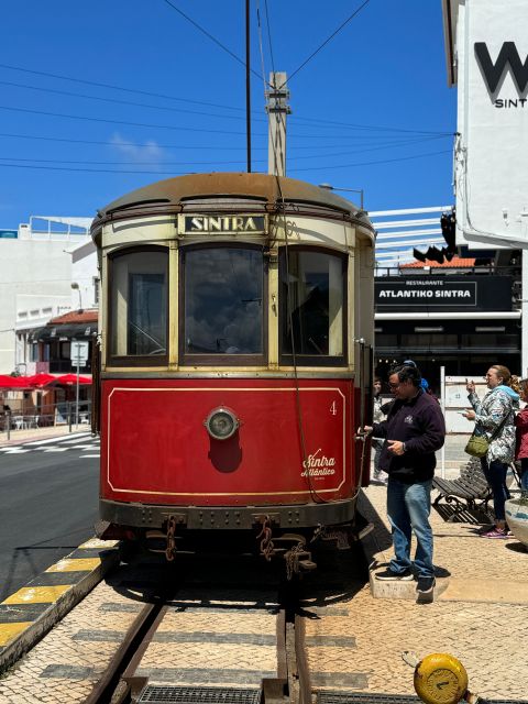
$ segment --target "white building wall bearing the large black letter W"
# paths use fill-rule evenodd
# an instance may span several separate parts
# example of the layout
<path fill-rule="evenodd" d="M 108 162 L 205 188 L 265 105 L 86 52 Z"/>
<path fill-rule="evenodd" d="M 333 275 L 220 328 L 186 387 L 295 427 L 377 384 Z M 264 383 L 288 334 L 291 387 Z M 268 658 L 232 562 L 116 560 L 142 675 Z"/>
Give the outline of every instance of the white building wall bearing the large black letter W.
<path fill-rule="evenodd" d="M 528 246 L 528 86 L 520 91 L 506 68 L 492 92 L 475 51 L 476 42 L 485 43 L 496 64 L 503 44 L 514 42 L 524 64 L 527 26 L 527 0 L 459 0 L 461 136 L 455 151 L 455 188 L 460 244 L 473 241 L 496 246 L 498 241 L 515 246 L 520 240 Z M 508 107 L 501 107 L 504 105 Z"/>

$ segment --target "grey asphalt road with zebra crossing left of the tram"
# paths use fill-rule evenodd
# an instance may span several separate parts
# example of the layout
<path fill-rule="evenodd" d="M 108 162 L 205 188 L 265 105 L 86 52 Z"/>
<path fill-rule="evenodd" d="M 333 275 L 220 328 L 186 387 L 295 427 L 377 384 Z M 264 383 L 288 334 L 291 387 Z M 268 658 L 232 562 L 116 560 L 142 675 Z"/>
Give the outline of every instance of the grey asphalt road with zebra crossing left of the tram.
<path fill-rule="evenodd" d="M 94 536 L 97 455 L 89 435 L 0 448 L 0 602 Z"/>

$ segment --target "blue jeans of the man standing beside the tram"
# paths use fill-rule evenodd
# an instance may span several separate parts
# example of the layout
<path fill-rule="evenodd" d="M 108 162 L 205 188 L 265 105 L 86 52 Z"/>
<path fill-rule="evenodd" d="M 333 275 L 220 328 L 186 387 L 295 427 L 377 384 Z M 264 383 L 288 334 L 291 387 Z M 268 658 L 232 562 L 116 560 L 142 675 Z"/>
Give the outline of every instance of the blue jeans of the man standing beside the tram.
<path fill-rule="evenodd" d="M 388 476 L 387 514 L 393 527 L 395 557 L 389 568 L 397 574 L 413 566 L 410 559 L 410 537 L 417 539 L 414 565 L 418 576 L 435 576 L 432 564 L 432 530 L 429 525 L 431 513 L 432 480 L 417 484 L 404 484 Z"/>

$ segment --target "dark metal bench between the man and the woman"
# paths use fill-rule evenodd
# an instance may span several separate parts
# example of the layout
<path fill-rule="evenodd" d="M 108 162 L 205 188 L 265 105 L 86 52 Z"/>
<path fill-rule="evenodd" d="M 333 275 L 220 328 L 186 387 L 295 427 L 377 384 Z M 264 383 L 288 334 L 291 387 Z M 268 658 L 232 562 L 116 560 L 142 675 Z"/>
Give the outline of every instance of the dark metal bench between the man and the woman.
<path fill-rule="evenodd" d="M 438 492 L 432 506 L 444 520 L 469 524 L 493 521 L 493 510 L 488 506 L 492 490 L 477 458 L 471 458 L 455 480 L 435 476 L 432 487 Z"/>

